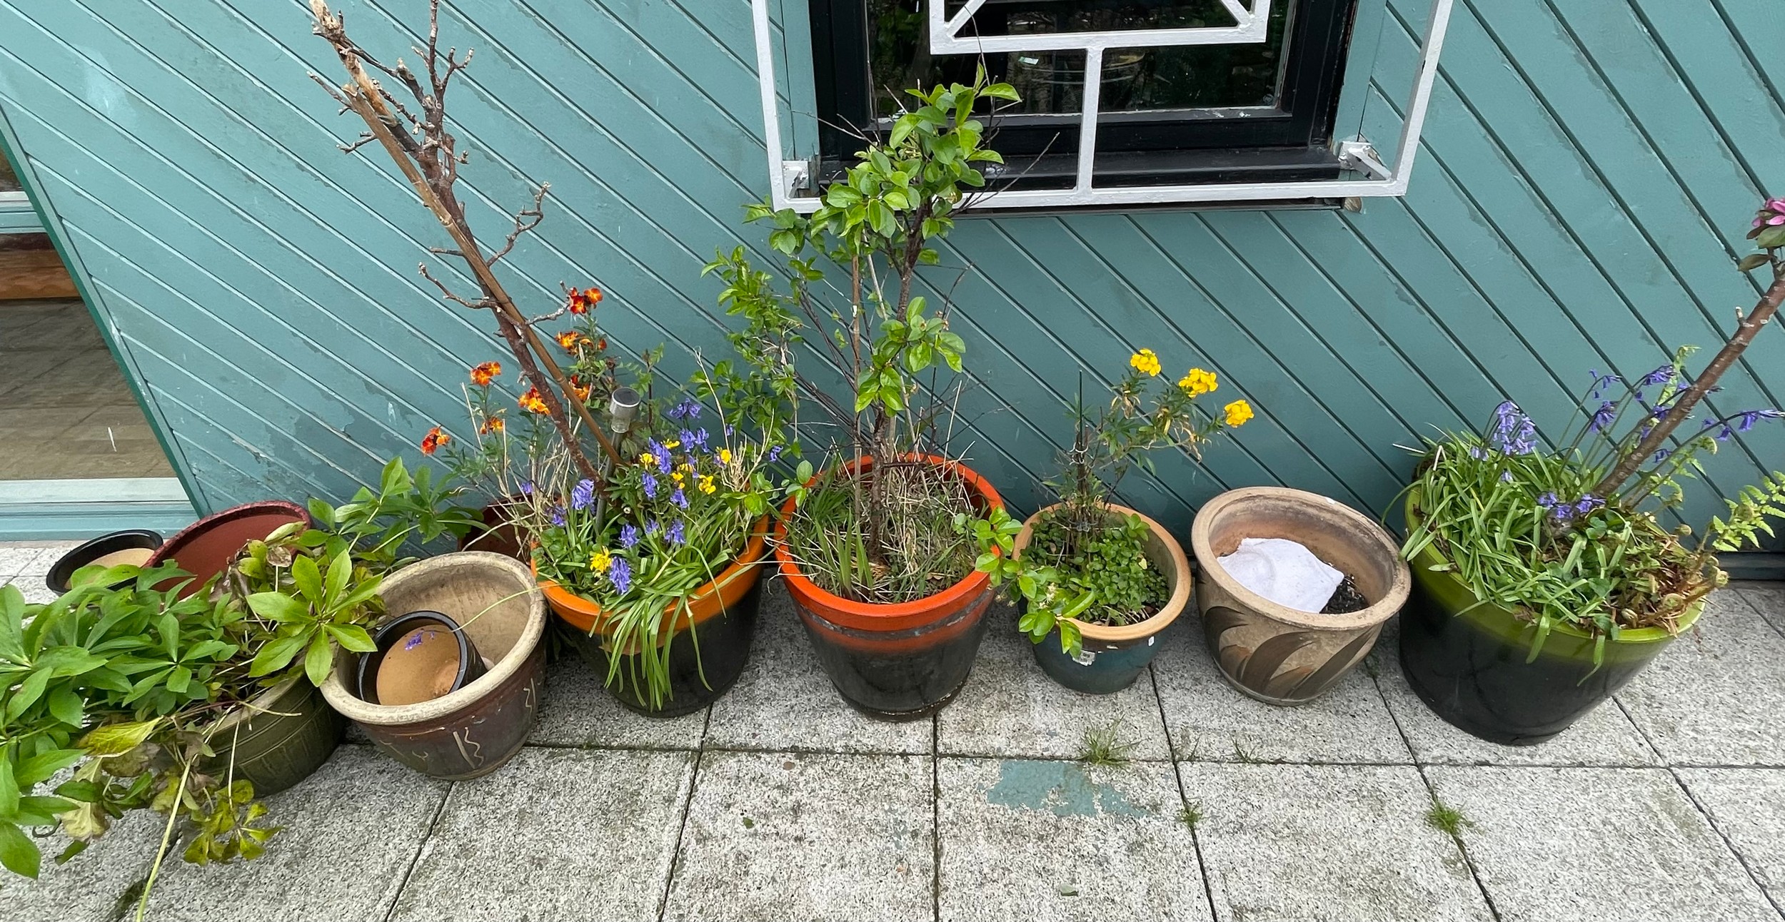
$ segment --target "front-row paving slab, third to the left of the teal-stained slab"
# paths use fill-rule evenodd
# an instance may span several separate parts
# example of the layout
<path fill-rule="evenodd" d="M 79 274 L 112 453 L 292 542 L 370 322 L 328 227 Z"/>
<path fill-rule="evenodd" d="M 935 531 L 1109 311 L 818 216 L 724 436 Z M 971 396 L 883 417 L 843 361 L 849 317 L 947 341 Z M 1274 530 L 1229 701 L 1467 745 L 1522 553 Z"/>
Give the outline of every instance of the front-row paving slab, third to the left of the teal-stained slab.
<path fill-rule="evenodd" d="M 162 863 L 148 918 L 382 920 L 421 847 L 446 785 L 343 745 L 302 785 L 266 799 L 286 829 L 253 861 Z"/>

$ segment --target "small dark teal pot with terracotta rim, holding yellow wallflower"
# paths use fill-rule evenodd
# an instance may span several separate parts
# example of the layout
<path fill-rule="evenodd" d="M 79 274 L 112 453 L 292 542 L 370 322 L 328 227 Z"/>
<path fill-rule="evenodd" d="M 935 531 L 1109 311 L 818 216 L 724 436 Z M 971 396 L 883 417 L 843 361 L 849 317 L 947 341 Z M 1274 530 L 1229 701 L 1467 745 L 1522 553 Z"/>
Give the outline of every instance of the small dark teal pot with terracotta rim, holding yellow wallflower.
<path fill-rule="evenodd" d="M 1023 531 L 1016 537 L 1016 553 L 1021 555 L 1035 535 L 1035 523 L 1048 512 L 1060 508 L 1048 506 L 1023 523 Z M 1146 665 L 1158 654 L 1158 635 L 1178 619 L 1183 606 L 1191 603 L 1191 562 L 1183 556 L 1178 539 L 1166 531 L 1166 526 L 1141 515 L 1128 506 L 1108 505 L 1117 515 L 1139 515 L 1146 523 L 1146 560 L 1166 574 L 1166 587 L 1171 596 L 1153 617 L 1135 624 L 1091 624 L 1073 619 L 1082 638 L 1076 658 L 1060 651 L 1060 631 L 1055 630 L 1035 644 L 1035 665 L 1053 681 L 1091 696 L 1119 692 L 1133 679 L 1141 678 Z"/>

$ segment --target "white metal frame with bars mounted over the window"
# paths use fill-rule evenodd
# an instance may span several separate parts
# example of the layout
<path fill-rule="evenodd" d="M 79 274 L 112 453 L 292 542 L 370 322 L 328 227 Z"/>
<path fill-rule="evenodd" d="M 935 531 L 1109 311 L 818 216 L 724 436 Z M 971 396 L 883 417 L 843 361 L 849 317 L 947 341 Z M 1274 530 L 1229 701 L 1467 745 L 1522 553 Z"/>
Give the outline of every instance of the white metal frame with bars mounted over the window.
<path fill-rule="evenodd" d="M 775 45 L 769 21 L 773 0 L 751 0 L 757 39 L 757 78 L 762 89 L 762 127 L 768 146 L 769 196 L 775 209 L 812 212 L 819 205 L 812 189 L 809 161 L 789 161 L 782 146 L 782 112 L 775 86 Z M 1408 93 L 1407 119 L 1394 144 L 1394 166 L 1385 166 L 1366 139 L 1339 141 L 1339 162 L 1358 178 L 1294 182 L 1230 182 L 1182 185 L 1098 185 L 1094 182 L 1098 95 L 1103 84 L 1103 50 L 1164 45 L 1228 45 L 1264 41 L 1273 0 L 1253 0 L 1248 11 L 1239 0 L 1221 0 L 1233 12 L 1233 27 L 1151 29 L 1105 32 L 1059 32 L 1039 36 L 960 36 L 960 29 L 985 0 L 967 0 L 953 16 L 944 16 L 946 0 L 925 0 L 930 14 L 930 50 L 934 54 L 978 54 L 1016 50 L 1083 50 L 1085 86 L 1080 114 L 1078 175 L 1071 189 L 1001 189 L 976 196 L 975 209 L 1060 209 L 1080 205 L 1173 205 L 1216 202 L 1273 202 L 1305 198 L 1376 198 L 1407 194 L 1419 152 L 1419 132 L 1437 80 L 1439 52 L 1449 27 L 1455 0 L 1432 0 L 1432 14 L 1419 43 L 1419 66 Z"/>

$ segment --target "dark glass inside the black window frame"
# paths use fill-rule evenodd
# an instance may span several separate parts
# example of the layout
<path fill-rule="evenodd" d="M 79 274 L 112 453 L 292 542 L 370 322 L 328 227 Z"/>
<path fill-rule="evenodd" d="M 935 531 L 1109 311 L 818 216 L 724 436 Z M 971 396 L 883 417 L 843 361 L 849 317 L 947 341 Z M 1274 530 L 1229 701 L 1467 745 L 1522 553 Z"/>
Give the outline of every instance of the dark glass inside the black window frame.
<path fill-rule="evenodd" d="M 875 114 L 896 112 L 892 93 L 935 82 L 969 82 L 975 55 L 930 55 L 926 0 L 868 0 Z M 1101 112 L 1274 107 L 1283 87 L 1283 34 L 1294 0 L 1271 5 L 1267 41 L 1110 48 L 1103 54 Z M 951 0 L 948 11 L 960 7 Z M 989 0 L 960 36 L 1116 32 L 1126 29 L 1232 27 L 1219 0 Z M 987 70 L 1023 95 L 1009 114 L 1078 112 L 1083 52 L 1005 52 Z"/>

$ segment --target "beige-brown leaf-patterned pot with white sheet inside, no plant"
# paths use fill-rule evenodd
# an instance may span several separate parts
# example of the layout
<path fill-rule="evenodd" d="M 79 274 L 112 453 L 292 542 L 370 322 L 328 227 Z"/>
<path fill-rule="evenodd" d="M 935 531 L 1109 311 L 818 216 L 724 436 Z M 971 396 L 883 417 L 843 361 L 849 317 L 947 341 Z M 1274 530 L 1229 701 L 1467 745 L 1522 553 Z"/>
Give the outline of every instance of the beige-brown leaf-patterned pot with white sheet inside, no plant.
<path fill-rule="evenodd" d="M 1321 615 L 1276 605 L 1239 585 L 1219 558 L 1241 539 L 1291 539 L 1357 583 L 1371 605 Z M 1221 676 L 1271 704 L 1301 704 L 1333 687 L 1407 603 L 1412 578 L 1380 524 L 1319 494 L 1246 487 L 1210 499 L 1191 530 L 1203 640 Z"/>

